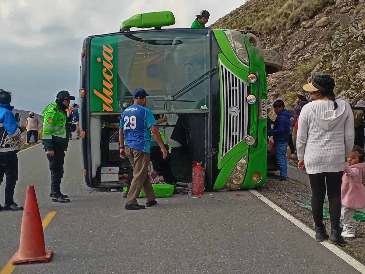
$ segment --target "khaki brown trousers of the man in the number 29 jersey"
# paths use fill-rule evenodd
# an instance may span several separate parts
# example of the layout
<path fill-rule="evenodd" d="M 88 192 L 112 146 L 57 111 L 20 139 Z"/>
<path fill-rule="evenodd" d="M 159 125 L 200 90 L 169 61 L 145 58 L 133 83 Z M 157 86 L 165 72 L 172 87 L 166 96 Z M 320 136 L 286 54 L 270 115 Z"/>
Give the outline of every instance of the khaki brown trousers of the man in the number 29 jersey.
<path fill-rule="evenodd" d="M 146 201 L 150 202 L 156 199 L 155 192 L 152 188 L 150 177 L 147 175 L 150 163 L 150 153 L 125 146 L 126 155 L 133 167 L 133 179 L 128 192 L 127 201 L 130 205 L 137 205 L 137 197 L 141 189 L 145 192 Z"/>

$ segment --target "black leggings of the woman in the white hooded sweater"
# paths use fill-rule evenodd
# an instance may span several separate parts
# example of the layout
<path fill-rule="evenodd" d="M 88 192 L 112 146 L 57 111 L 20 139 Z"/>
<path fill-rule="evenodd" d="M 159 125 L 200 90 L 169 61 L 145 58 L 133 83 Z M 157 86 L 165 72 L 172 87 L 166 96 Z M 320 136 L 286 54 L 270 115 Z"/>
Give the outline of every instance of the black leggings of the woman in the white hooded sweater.
<path fill-rule="evenodd" d="M 343 171 L 309 174 L 312 187 L 312 215 L 316 227 L 322 227 L 323 225 L 323 203 L 326 196 L 326 182 L 331 228 L 340 227 L 342 175 Z"/>

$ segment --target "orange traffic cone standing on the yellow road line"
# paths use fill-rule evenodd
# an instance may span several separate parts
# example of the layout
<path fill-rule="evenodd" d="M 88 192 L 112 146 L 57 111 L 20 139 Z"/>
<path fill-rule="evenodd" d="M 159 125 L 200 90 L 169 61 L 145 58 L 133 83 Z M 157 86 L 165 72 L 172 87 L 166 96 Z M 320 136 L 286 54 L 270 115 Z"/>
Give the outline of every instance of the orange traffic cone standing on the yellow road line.
<path fill-rule="evenodd" d="M 34 186 L 28 186 L 25 198 L 22 230 L 20 231 L 19 251 L 11 259 L 11 263 L 49 262 L 52 250 L 46 250 L 41 215 L 35 196 Z"/>

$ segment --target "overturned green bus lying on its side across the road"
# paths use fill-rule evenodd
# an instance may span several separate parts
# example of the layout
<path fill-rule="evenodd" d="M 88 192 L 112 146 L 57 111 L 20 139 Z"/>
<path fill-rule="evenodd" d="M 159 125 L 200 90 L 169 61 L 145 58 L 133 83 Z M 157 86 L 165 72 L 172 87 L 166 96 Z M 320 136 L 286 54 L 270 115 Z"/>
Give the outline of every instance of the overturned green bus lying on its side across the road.
<path fill-rule="evenodd" d="M 153 20 L 153 15 L 148 16 L 144 18 Z M 141 18 L 143 15 L 124 21 L 120 28 L 127 31 L 91 36 L 83 43 L 79 106 L 81 130 L 85 133 L 81 149 L 86 184 L 102 185 L 100 167 L 108 166 L 109 156 L 105 155 L 111 153 L 105 152 L 104 142 L 112 140 L 111 133 L 105 133 L 105 122 L 110 119 L 111 124 L 118 125 L 116 117 L 122 113 L 123 102 L 131 98 L 134 88 L 141 87 L 150 94 L 154 114 L 176 115 L 183 121 L 187 149 L 179 151 L 187 153 L 187 160 L 180 164 L 185 173 L 191 172 L 192 161 L 199 161 L 205 168 L 207 190 L 262 186 L 266 179 L 267 138 L 262 51 L 239 30 L 160 29 L 168 25 L 160 20 L 155 30 L 129 31 L 132 26 L 154 26 L 147 19 L 141 23 Z M 168 20 L 174 23 L 173 15 Z M 135 49 L 133 45 L 137 44 Z M 181 95 L 182 88 L 204 74 L 195 87 Z M 257 78 L 254 83 L 247 80 L 250 74 Z M 173 84 L 168 87 L 167 83 Z M 246 101 L 248 95 L 255 96 L 253 104 Z M 174 131 L 177 124 L 166 123 L 159 128 L 170 126 Z M 246 144 L 247 136 L 254 137 L 255 142 Z M 180 158 L 174 156 L 173 161 Z"/>

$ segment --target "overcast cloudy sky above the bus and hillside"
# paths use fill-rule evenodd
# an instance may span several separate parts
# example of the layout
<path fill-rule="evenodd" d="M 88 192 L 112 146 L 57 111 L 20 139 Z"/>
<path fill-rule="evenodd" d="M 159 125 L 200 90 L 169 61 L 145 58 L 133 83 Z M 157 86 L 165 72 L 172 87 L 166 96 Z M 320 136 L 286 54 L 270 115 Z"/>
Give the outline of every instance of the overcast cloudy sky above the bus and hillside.
<path fill-rule="evenodd" d="M 119 31 L 123 20 L 152 11 L 172 11 L 174 27 L 190 27 L 195 15 L 207 9 L 208 26 L 244 3 L 0 0 L 0 88 L 13 92 L 11 103 L 16 109 L 41 113 L 58 91 L 78 94 L 81 46 L 88 35 Z"/>

